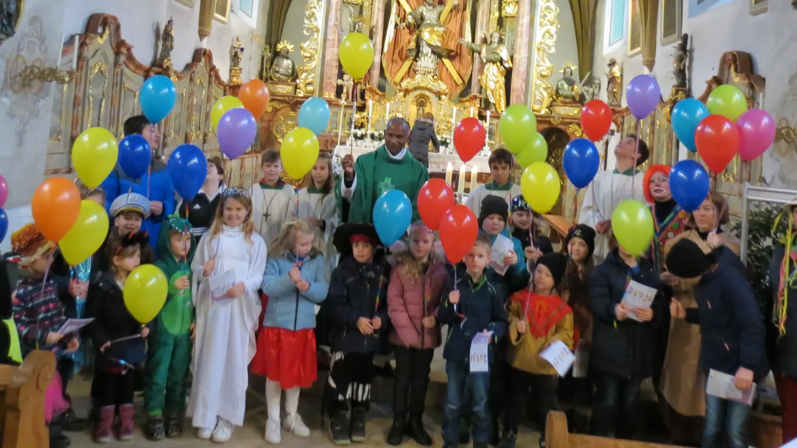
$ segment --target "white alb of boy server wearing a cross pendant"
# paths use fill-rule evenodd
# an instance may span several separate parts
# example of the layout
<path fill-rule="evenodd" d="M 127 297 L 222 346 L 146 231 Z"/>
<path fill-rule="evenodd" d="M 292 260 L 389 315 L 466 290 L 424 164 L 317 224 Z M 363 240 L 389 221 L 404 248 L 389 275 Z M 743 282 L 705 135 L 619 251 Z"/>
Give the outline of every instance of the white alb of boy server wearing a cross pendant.
<path fill-rule="evenodd" d="M 296 200 L 296 193 L 287 184 L 281 188 L 263 188 L 260 183 L 255 183 L 249 188 L 249 195 L 252 195 L 254 228 L 263 237 L 265 245 L 271 246 L 279 236 L 282 225 L 288 221 L 288 210 Z"/>

